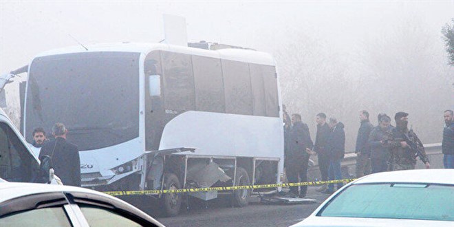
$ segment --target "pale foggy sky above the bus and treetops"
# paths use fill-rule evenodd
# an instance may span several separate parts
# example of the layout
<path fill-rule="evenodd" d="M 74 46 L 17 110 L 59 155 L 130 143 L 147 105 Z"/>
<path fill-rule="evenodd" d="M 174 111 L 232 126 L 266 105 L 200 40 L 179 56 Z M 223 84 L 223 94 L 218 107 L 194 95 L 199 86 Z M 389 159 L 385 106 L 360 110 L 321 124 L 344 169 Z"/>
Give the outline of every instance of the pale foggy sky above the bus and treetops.
<path fill-rule="evenodd" d="M 68 45 L 163 39 L 162 14 L 186 17 L 189 41 L 212 41 L 272 52 L 285 29 L 323 37 L 351 52 L 369 36 L 386 34 L 408 17 L 434 34 L 454 17 L 454 1 L 144 2 L 39 1 L 0 3 L 0 73 L 27 65 L 34 55 Z M 264 37 L 264 34 L 269 35 Z M 297 42 L 297 41 L 296 41 Z M 441 45 L 441 39 L 440 39 Z"/>

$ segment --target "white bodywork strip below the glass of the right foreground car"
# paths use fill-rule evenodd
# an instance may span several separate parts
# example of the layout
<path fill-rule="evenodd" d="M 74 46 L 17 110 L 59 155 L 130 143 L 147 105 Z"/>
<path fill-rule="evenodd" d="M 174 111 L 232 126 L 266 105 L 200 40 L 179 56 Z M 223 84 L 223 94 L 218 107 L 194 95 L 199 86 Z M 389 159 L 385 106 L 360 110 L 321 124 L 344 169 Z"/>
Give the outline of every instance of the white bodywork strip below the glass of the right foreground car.
<path fill-rule="evenodd" d="M 437 227 L 453 227 L 452 221 L 429 221 L 429 220 L 415 220 L 415 219 L 385 219 L 385 218 L 358 218 L 358 217 L 316 217 L 310 216 L 294 224 L 296 226 L 437 226 Z"/>

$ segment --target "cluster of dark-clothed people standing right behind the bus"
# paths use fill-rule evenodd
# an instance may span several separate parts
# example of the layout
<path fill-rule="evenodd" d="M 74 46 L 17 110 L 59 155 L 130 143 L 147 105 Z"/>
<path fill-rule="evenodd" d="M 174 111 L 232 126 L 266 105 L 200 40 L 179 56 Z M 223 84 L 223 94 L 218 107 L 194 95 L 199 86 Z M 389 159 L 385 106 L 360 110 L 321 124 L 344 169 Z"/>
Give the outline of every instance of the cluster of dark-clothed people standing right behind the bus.
<path fill-rule="evenodd" d="M 315 144 L 310 137 L 309 127 L 301 122 L 301 115 L 290 116 L 284 109 L 284 166 L 289 182 L 307 181 L 307 166 L 310 155 L 318 155 L 322 180 L 340 180 L 340 161 L 345 155 L 345 132 L 342 122 L 336 118 L 329 118 L 326 114 L 316 115 L 317 133 Z M 337 184 L 340 188 L 343 184 Z M 334 184 L 323 186 L 318 191 L 323 193 L 334 192 Z M 307 186 L 290 187 L 290 197 L 305 197 Z"/>

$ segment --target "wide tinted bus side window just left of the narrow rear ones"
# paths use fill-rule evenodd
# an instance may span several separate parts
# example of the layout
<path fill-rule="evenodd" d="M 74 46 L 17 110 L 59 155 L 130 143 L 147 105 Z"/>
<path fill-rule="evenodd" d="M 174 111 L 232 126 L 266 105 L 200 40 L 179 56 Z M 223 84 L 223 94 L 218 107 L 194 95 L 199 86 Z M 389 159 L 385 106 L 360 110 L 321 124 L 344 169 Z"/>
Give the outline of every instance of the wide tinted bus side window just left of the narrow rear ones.
<path fill-rule="evenodd" d="M 252 115 L 252 90 L 247 63 L 222 60 L 226 113 Z"/>

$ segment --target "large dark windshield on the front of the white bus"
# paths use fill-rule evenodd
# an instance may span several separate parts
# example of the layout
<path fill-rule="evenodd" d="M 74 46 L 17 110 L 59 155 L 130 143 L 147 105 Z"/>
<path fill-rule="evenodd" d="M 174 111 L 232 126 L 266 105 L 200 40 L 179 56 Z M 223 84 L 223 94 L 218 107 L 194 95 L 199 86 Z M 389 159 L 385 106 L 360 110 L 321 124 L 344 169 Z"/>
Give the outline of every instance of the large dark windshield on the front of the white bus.
<path fill-rule="evenodd" d="M 25 133 L 56 122 L 80 151 L 139 136 L 139 55 L 85 52 L 35 58 L 25 99 Z"/>

